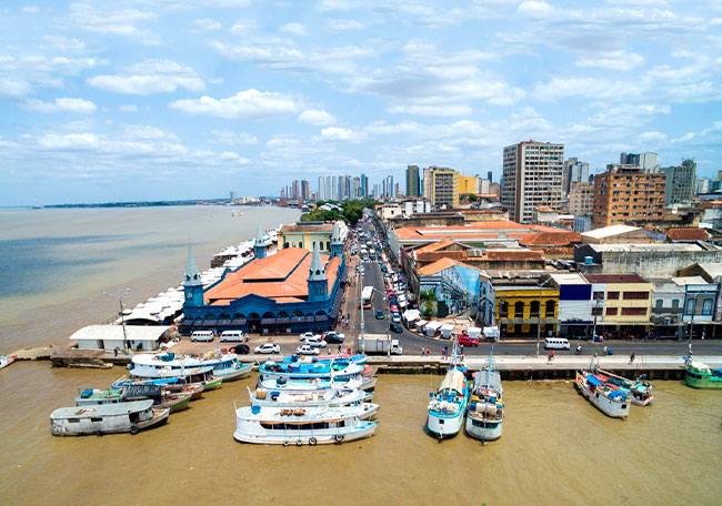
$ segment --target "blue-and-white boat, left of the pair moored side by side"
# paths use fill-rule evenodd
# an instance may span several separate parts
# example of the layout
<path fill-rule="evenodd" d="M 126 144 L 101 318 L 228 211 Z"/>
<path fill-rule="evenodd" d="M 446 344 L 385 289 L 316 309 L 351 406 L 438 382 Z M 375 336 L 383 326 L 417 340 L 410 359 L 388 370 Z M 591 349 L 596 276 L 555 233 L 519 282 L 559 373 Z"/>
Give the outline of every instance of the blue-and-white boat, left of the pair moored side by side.
<path fill-rule="evenodd" d="M 454 343 L 454 352 L 457 345 Z M 457 353 L 452 364 L 435 393 L 431 393 L 427 428 L 439 441 L 459 433 L 469 403 L 469 385 L 464 373 L 457 364 Z"/>

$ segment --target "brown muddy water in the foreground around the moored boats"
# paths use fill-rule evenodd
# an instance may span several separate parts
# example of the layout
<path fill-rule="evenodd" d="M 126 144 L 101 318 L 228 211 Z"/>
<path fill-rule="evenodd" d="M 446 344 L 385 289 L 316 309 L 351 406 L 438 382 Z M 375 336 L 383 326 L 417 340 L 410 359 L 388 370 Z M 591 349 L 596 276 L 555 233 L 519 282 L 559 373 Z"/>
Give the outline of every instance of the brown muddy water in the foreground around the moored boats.
<path fill-rule="evenodd" d="M 505 382 L 503 435 L 482 446 L 424 433 L 440 376 L 381 376 L 373 437 L 327 446 L 233 439 L 224 384 L 137 436 L 53 437 L 50 413 L 122 373 L 19 363 L 0 374 L 2 504 L 713 505 L 722 496 L 722 393 L 658 382 L 654 405 L 605 417 L 571 383 Z"/>

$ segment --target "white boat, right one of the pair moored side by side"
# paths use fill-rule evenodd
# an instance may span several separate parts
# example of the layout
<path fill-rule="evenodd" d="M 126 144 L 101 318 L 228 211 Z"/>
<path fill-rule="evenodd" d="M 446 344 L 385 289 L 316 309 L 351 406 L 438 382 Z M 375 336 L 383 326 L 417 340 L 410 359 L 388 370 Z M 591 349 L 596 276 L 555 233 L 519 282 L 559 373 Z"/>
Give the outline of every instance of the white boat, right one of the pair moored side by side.
<path fill-rule="evenodd" d="M 504 418 L 504 398 L 501 375 L 490 355 L 488 366 L 474 373 L 471 401 L 467 413 L 467 434 L 481 441 L 501 437 Z"/>

